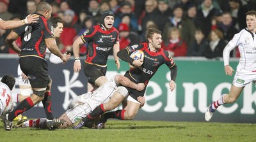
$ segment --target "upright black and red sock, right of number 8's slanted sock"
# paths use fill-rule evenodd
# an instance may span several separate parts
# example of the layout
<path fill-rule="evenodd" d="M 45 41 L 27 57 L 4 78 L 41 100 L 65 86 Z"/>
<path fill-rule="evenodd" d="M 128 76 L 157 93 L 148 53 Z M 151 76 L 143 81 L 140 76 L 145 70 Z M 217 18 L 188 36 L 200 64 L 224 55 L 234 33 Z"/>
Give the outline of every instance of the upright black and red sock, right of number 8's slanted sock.
<path fill-rule="evenodd" d="M 44 111 L 46 114 L 46 118 L 48 120 L 52 120 L 54 117 L 52 115 L 52 96 L 51 96 L 51 92 L 46 92 L 44 94 L 44 99 L 42 101 L 43 105 L 44 105 Z"/>

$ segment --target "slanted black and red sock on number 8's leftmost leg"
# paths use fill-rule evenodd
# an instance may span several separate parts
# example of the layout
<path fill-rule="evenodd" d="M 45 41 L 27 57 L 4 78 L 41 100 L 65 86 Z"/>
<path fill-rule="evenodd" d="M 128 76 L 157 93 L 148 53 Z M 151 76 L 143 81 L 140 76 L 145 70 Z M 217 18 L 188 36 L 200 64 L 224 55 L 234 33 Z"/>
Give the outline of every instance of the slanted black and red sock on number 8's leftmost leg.
<path fill-rule="evenodd" d="M 12 111 L 9 113 L 8 115 L 8 120 L 13 121 L 13 119 L 15 117 L 17 117 L 18 115 L 20 115 L 21 113 L 23 113 L 24 111 L 29 110 L 30 108 L 32 108 L 35 104 L 33 103 L 33 101 L 31 100 L 30 97 L 27 97 L 26 99 L 24 99 L 22 102 L 19 103 L 19 105 Z"/>

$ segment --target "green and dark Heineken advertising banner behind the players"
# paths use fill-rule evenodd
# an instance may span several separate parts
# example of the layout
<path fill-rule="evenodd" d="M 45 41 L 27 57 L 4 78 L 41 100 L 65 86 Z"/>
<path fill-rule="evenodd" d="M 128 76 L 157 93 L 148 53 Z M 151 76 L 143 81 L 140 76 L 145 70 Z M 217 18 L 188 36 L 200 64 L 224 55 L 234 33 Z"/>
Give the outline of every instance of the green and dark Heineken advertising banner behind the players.
<path fill-rule="evenodd" d="M 145 93 L 146 103 L 138 112 L 135 120 L 166 120 L 204 122 L 204 113 L 211 101 L 216 101 L 221 94 L 228 93 L 233 76 L 225 75 L 222 60 L 207 60 L 202 58 L 175 59 L 178 66 L 177 89 L 169 90 L 170 70 L 163 64 L 156 75 L 148 83 Z M 18 57 L 1 57 L 0 78 L 11 74 L 17 78 Z M 29 63 L 28 63 L 29 64 Z M 74 73 L 74 60 L 66 64 L 49 65 L 49 75 L 52 82 L 52 112 L 59 117 L 68 108 L 68 104 L 76 96 L 87 92 L 87 78 L 83 71 Z M 230 62 L 236 70 L 238 60 Z M 116 69 L 112 57 L 108 60 L 107 77 L 116 73 L 124 75 L 129 69 L 127 62 L 121 61 L 121 67 Z M 18 79 L 18 78 L 17 78 Z M 255 84 L 247 85 L 236 103 L 218 108 L 211 122 L 246 122 L 256 123 L 256 92 Z M 15 85 L 13 93 L 19 93 L 19 84 Z M 120 109 L 120 107 L 118 107 Z M 24 113 L 29 118 L 45 117 L 42 104 Z"/>

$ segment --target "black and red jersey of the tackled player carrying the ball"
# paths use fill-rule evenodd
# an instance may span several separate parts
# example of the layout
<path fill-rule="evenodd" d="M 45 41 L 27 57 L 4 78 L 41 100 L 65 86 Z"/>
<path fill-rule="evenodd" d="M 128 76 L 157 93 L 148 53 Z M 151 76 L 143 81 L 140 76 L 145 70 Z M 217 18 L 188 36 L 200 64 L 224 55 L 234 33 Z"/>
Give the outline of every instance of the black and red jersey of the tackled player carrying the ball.
<path fill-rule="evenodd" d="M 160 48 L 157 52 L 150 52 L 148 43 L 128 46 L 126 49 L 129 51 L 129 55 L 136 50 L 142 50 L 145 53 L 143 64 L 140 67 L 131 68 L 125 73 L 125 76 L 131 76 L 136 83 L 147 85 L 150 78 L 152 78 L 162 64 L 166 64 L 169 68 L 175 65 L 172 57 L 168 57 L 167 51 Z"/>

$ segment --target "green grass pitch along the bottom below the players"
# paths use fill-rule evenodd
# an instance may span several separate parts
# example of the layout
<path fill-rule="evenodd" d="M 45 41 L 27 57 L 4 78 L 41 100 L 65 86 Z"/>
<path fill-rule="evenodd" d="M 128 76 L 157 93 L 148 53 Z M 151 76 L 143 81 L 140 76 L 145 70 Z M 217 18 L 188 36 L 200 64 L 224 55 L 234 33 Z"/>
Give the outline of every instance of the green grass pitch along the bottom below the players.
<path fill-rule="evenodd" d="M 15 122 L 13 122 L 15 123 Z M 256 141 L 256 124 L 109 120 L 106 129 L 12 129 L 0 141 Z"/>

